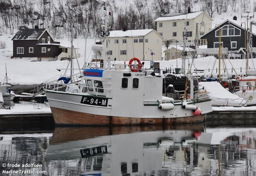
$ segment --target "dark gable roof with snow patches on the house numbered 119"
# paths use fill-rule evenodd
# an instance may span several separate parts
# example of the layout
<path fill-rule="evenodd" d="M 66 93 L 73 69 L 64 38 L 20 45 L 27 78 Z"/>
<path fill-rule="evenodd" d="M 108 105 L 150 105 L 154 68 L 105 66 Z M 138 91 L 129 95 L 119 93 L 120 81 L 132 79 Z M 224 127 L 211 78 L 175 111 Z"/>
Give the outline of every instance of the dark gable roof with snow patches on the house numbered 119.
<path fill-rule="evenodd" d="M 38 40 L 47 29 L 20 29 L 12 38 L 12 40 Z M 50 35 L 50 33 L 47 31 Z M 52 36 L 50 35 L 52 38 Z M 53 40 L 53 38 L 52 38 Z M 53 40 L 54 41 L 54 40 Z"/>

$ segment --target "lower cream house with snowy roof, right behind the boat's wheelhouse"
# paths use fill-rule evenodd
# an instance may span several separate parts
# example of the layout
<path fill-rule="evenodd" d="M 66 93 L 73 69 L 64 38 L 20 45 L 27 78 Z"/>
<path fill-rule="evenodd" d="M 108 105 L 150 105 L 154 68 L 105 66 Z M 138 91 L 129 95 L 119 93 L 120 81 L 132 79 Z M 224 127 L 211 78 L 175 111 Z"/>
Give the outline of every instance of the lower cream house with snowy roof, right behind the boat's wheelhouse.
<path fill-rule="evenodd" d="M 163 37 L 154 29 L 110 31 L 107 58 L 130 60 L 138 57 L 140 60 L 162 60 L 162 40 Z"/>

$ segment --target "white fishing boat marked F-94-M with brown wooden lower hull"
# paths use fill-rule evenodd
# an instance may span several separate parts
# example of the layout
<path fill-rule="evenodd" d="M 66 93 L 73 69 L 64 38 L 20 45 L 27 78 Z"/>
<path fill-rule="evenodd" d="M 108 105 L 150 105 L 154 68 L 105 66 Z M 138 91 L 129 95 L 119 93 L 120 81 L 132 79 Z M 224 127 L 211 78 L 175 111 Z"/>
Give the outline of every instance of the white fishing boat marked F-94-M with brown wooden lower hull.
<path fill-rule="evenodd" d="M 105 24 L 106 31 L 106 20 Z M 184 36 L 184 48 L 185 40 Z M 183 98 L 167 100 L 162 96 L 162 78 L 147 75 L 137 57 L 131 58 L 127 65 L 110 64 L 106 60 L 105 46 L 92 45 L 94 51 L 105 50 L 104 63 L 85 67 L 79 83 L 73 83 L 71 76 L 68 85 L 49 83 L 42 89 L 56 125 L 196 123 L 202 122 L 204 114 L 212 111 L 208 92 L 199 91 L 197 82 L 194 84 L 198 78 L 189 70 Z M 67 86 L 66 91 L 58 90 L 63 86 Z"/>

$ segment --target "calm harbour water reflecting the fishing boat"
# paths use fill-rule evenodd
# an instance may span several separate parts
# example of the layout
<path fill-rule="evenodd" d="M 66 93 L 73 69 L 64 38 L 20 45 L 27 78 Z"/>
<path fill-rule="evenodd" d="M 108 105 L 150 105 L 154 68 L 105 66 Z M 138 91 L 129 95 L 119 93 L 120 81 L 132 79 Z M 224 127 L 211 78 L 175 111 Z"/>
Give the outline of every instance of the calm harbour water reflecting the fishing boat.
<path fill-rule="evenodd" d="M 255 138 L 254 126 L 204 124 L 0 132 L 0 175 L 10 169 L 3 163 L 42 164 L 32 169 L 61 176 L 256 175 Z"/>

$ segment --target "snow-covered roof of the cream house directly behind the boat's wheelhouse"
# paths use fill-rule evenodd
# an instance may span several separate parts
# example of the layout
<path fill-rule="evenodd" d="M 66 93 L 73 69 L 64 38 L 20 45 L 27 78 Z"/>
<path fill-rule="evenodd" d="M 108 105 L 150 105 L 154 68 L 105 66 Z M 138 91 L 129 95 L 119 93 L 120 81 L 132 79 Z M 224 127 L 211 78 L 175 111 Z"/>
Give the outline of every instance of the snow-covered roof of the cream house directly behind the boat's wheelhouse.
<path fill-rule="evenodd" d="M 145 36 L 154 29 L 139 29 L 139 30 L 127 30 L 127 31 L 110 31 L 109 37 L 139 37 Z"/>

